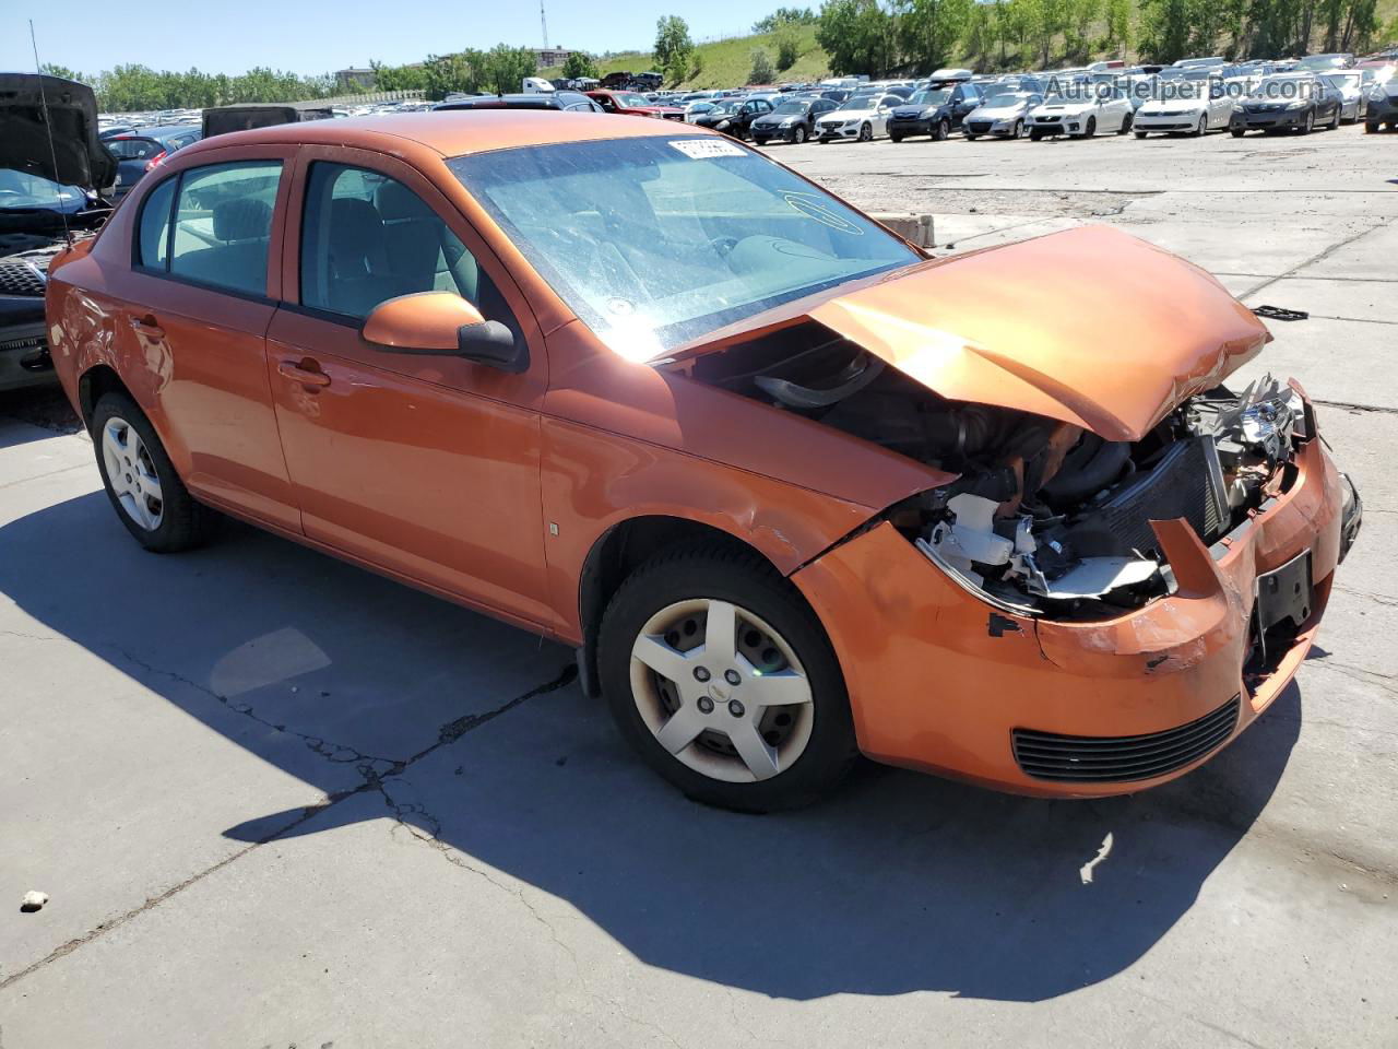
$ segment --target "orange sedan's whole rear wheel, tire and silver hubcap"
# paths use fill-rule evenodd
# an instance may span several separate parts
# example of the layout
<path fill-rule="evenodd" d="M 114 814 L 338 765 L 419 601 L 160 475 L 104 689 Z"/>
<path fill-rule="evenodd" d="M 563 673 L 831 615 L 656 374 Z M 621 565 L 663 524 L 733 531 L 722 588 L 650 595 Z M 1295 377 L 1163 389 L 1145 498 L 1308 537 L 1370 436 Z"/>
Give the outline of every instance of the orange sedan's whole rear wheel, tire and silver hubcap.
<path fill-rule="evenodd" d="M 92 446 L 116 516 L 147 550 L 173 554 L 203 543 L 210 511 L 194 502 L 145 413 L 124 393 L 92 410 Z"/>

